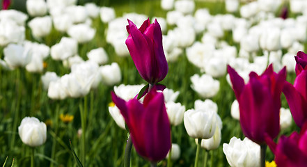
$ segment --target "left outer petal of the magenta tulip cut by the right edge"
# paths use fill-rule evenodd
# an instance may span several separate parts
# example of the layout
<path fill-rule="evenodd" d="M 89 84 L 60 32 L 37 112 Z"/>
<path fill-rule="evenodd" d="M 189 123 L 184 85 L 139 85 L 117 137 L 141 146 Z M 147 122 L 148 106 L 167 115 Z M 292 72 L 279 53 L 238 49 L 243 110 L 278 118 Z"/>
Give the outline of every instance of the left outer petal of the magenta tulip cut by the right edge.
<path fill-rule="evenodd" d="M 285 81 L 283 86 L 283 94 L 288 102 L 294 122 L 297 126 L 301 127 L 307 118 L 307 113 L 304 111 L 306 109 L 306 101 L 288 81 Z"/>

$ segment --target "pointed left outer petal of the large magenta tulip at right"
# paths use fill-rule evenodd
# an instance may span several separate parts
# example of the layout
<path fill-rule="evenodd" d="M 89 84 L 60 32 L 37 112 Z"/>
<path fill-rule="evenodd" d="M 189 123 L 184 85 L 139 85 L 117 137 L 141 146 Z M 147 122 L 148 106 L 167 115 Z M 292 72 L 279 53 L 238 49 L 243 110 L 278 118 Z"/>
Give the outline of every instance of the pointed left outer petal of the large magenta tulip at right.
<path fill-rule="evenodd" d="M 244 80 L 242 79 L 242 77 L 239 76 L 239 74 L 237 74 L 237 72 L 230 67 L 230 65 L 228 65 L 228 73 L 230 76 L 230 81 L 233 84 L 233 91 L 235 92 L 235 97 L 237 97 L 237 99 L 239 99 L 239 96 L 242 93 L 242 90 L 244 88 Z"/>

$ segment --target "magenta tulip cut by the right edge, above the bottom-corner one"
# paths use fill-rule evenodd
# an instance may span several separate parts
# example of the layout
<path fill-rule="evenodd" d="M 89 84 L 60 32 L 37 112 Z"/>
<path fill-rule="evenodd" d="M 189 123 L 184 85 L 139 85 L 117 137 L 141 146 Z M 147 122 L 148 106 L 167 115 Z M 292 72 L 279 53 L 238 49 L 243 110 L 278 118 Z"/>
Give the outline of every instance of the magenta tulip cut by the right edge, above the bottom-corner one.
<path fill-rule="evenodd" d="M 307 54 L 303 51 L 297 52 L 295 56 L 297 65 L 295 71 L 297 78 L 294 84 L 285 83 L 283 93 L 290 107 L 294 122 L 302 127 L 307 121 Z"/>

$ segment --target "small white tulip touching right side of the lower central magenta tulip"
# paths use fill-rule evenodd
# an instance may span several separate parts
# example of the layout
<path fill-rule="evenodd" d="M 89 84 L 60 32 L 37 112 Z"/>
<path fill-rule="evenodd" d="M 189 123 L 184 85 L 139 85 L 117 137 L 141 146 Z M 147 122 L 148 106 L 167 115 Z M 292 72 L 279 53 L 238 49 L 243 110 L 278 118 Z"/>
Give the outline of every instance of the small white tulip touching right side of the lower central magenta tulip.
<path fill-rule="evenodd" d="M 173 126 L 180 125 L 180 123 L 183 120 L 185 106 L 182 106 L 180 103 L 167 102 L 166 111 L 171 125 Z"/>

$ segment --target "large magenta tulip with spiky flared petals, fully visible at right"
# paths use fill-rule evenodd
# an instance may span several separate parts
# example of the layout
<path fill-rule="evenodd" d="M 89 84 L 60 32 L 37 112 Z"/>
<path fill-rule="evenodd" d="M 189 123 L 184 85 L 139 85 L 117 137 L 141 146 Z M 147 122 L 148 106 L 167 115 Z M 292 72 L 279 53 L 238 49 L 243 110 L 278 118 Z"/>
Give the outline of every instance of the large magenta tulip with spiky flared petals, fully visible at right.
<path fill-rule="evenodd" d="M 275 138 L 280 130 L 279 110 L 281 109 L 281 90 L 285 82 L 285 67 L 276 74 L 272 65 L 260 76 L 249 74 L 249 83 L 228 65 L 228 73 L 233 90 L 239 102 L 240 124 L 244 135 L 260 145 L 265 136 Z"/>

